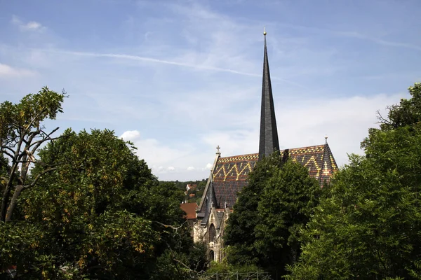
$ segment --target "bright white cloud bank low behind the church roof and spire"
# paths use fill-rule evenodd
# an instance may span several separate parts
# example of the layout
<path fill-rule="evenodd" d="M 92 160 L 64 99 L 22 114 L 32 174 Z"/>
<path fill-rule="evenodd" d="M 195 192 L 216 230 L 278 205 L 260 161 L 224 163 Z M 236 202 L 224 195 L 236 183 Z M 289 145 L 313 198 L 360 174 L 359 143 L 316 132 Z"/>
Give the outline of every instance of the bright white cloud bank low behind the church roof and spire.
<path fill-rule="evenodd" d="M 398 102 L 401 97 L 406 94 L 311 99 L 290 102 L 283 108 L 279 100 L 275 108 L 281 148 L 320 145 L 327 134 L 338 165 L 343 165 L 347 163 L 347 153 L 363 153 L 359 145 L 368 135 L 368 128 L 377 126 L 375 112 L 384 112 L 387 105 Z M 195 151 L 199 146 L 173 148 L 156 139 L 143 139 L 137 130 L 124 132 L 121 137 L 134 142 L 140 158 L 145 158 L 161 180 L 203 179 L 212 168 L 212 164 L 206 162 L 215 157 L 213 151 L 217 145 L 221 147 L 222 157 L 258 153 L 260 114 L 256 112 L 258 110 L 239 112 L 230 120 L 238 126 L 236 130 L 222 127 L 202 134 L 198 145 L 204 148 L 199 153 Z M 218 114 L 214 117 L 213 127 L 226 120 Z M 237 119 L 242 119 L 243 123 Z"/>

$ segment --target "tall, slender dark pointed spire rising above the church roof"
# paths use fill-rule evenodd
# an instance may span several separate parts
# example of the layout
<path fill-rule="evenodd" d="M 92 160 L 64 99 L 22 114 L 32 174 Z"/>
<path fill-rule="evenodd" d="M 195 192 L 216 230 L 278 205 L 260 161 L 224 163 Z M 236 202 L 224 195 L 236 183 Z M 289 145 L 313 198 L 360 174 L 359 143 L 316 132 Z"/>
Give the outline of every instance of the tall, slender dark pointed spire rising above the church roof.
<path fill-rule="evenodd" d="M 279 139 L 278 130 L 276 128 L 274 97 L 272 96 L 269 61 L 267 59 L 266 30 L 263 31 L 263 35 L 265 36 L 265 55 L 263 57 L 259 160 L 271 155 L 275 150 L 279 151 Z"/>

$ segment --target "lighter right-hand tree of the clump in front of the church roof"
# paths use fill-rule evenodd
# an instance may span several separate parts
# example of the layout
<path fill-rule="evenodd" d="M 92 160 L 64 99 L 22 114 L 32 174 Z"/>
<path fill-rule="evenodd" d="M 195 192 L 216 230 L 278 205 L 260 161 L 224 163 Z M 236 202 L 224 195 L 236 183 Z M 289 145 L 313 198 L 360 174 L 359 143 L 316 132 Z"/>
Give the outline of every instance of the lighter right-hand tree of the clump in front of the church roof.
<path fill-rule="evenodd" d="M 298 261 L 299 235 L 319 202 L 321 187 L 305 167 L 288 160 L 267 180 L 255 228 L 255 248 L 264 257 L 262 267 L 276 279 L 286 273 L 286 265 Z"/>

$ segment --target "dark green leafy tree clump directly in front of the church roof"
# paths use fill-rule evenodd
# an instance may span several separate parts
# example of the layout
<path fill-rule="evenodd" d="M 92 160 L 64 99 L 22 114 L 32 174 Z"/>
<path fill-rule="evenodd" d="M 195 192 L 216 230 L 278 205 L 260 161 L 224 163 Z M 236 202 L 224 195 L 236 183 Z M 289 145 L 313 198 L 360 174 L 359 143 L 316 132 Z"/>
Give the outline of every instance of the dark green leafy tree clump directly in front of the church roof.
<path fill-rule="evenodd" d="M 300 255 L 298 235 L 309 221 L 321 188 L 305 167 L 278 154 L 258 162 L 229 217 L 227 260 L 258 265 L 278 279 Z"/>

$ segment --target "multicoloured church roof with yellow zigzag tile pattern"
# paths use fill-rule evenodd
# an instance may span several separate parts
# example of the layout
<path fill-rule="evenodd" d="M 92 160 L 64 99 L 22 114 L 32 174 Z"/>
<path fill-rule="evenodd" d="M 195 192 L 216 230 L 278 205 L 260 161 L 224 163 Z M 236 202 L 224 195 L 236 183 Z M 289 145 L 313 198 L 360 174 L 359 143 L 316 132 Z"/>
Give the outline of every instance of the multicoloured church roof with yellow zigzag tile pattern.
<path fill-rule="evenodd" d="M 335 159 L 328 144 L 291 148 L 280 151 L 281 156 L 288 153 L 288 158 L 299 162 L 306 167 L 309 175 L 314 177 L 321 186 L 323 182 L 330 181 L 333 173 L 338 170 Z M 202 200 L 213 201 L 215 207 L 224 208 L 225 203 L 232 208 L 236 202 L 237 193 L 248 184 L 248 173 L 253 170 L 258 161 L 259 154 L 235 155 L 227 158 L 218 158 L 212 174 L 212 181 Z M 207 200 L 206 200 L 207 201 Z M 206 203 L 205 203 L 206 204 Z M 207 215 L 205 204 L 201 205 L 198 216 L 203 217 L 206 223 Z"/>

